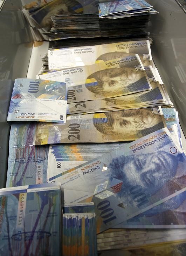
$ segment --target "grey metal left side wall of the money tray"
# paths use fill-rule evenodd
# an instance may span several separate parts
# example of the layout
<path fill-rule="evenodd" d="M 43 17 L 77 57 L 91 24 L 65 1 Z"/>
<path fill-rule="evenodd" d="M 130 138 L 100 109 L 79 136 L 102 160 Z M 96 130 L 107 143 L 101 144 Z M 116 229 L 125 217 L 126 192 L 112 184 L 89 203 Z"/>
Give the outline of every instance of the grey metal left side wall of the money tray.
<path fill-rule="evenodd" d="M 6 0 L 0 11 L 0 188 L 7 175 L 11 80 L 26 77 L 33 45 L 21 6 L 20 0 Z"/>

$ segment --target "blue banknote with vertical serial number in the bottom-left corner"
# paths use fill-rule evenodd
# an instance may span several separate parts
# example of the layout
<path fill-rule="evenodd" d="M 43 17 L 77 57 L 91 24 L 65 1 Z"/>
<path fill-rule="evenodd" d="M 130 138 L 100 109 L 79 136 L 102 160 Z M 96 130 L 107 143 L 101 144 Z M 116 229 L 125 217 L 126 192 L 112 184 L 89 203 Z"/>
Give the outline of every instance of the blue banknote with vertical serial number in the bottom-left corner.
<path fill-rule="evenodd" d="M 60 185 L 0 190 L 1 255 L 61 255 Z"/>

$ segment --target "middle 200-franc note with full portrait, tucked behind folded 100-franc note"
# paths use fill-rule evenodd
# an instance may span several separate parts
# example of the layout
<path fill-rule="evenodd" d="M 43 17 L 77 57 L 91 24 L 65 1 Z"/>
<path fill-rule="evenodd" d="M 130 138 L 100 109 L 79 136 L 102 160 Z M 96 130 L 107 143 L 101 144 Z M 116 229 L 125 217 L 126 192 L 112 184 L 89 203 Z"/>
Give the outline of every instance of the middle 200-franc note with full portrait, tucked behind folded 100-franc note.
<path fill-rule="evenodd" d="M 152 89 L 138 55 L 105 62 L 100 60 L 92 65 L 37 75 L 37 78 L 66 82 L 69 86 L 68 103 Z"/>

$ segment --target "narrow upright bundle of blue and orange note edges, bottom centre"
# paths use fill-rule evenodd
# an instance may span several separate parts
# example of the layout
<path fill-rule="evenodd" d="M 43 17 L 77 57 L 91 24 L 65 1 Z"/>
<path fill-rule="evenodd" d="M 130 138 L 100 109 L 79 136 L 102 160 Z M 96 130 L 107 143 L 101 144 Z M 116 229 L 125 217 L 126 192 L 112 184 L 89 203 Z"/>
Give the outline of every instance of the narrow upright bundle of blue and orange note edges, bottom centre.
<path fill-rule="evenodd" d="M 94 203 L 64 205 L 62 255 L 97 255 Z"/>

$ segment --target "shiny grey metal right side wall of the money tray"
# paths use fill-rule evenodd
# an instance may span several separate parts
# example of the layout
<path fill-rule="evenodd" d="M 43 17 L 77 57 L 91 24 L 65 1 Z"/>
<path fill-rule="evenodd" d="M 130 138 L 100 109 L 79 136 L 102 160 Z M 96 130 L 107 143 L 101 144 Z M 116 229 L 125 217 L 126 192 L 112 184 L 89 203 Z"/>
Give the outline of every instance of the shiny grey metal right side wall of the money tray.
<path fill-rule="evenodd" d="M 149 26 L 152 57 L 186 135 L 186 14 L 175 0 L 147 2 L 159 12 Z"/>

